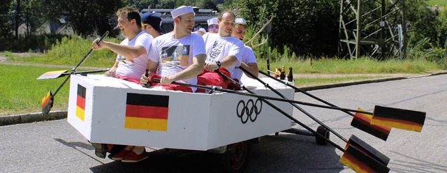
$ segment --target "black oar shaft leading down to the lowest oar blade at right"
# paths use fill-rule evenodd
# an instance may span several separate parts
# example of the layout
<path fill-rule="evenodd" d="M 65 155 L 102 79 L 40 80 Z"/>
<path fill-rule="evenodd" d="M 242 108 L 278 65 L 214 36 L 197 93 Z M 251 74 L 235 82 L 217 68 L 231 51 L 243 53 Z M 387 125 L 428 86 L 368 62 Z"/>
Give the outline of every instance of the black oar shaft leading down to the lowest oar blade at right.
<path fill-rule="evenodd" d="M 219 75 L 221 75 L 223 78 L 225 78 L 226 80 L 229 80 L 230 82 L 232 82 L 233 84 L 236 84 L 237 86 L 243 88 L 245 91 L 251 93 L 254 96 L 258 96 L 256 95 L 256 93 L 254 93 L 253 91 L 247 89 L 246 87 L 244 87 L 243 85 L 237 83 L 235 80 L 231 79 L 230 77 L 223 75 L 219 70 L 215 70 L 216 73 L 219 73 Z M 281 114 L 284 114 L 284 116 L 287 116 L 288 119 L 291 119 L 292 121 L 295 121 L 295 123 L 298 123 L 300 126 L 302 126 L 303 128 L 306 128 L 307 130 L 309 130 L 310 132 L 314 133 L 314 135 L 321 137 L 322 139 L 325 139 L 327 142 L 329 142 L 330 144 L 332 144 L 332 146 L 335 146 L 337 149 L 339 149 L 340 151 L 345 152 L 345 150 L 335 144 L 334 142 L 328 140 L 325 136 L 321 135 L 320 133 L 317 133 L 315 130 L 313 130 L 312 128 L 309 128 L 309 126 L 306 126 L 304 123 L 298 121 L 297 119 L 293 118 L 293 116 L 287 114 L 286 112 L 284 112 L 283 110 L 279 109 L 279 107 L 273 105 L 272 103 L 270 103 L 268 100 L 266 100 L 265 98 L 260 98 L 261 101 L 263 101 L 264 103 L 267 103 L 267 105 L 270 105 L 270 107 L 272 107 L 274 110 L 277 110 L 278 112 L 280 112 Z"/>

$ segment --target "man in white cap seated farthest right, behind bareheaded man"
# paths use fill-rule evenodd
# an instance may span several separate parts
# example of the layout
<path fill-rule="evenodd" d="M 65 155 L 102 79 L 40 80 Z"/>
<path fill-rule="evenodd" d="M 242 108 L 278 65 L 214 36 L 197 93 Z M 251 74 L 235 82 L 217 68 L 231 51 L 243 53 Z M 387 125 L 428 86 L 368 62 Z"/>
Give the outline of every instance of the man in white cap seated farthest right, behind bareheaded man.
<path fill-rule="evenodd" d="M 233 33 L 231 33 L 231 36 L 244 40 L 248 28 L 247 22 L 245 22 L 243 18 L 236 18 L 235 23 L 235 29 L 233 30 Z M 240 67 L 248 70 L 249 73 L 258 76 L 258 63 L 256 62 L 256 57 L 253 50 L 251 50 L 251 47 L 247 45 L 244 45 L 244 53 L 242 54 Z M 246 75 L 251 77 L 251 75 Z M 233 72 L 231 72 L 231 77 L 240 81 L 242 70 L 238 67 L 234 68 Z"/>

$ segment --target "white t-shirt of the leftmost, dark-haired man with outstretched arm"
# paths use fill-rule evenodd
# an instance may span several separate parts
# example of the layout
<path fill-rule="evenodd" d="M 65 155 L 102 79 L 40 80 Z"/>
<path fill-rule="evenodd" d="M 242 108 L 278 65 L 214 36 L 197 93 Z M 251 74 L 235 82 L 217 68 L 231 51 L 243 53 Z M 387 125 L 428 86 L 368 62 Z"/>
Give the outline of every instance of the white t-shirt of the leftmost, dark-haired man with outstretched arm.
<path fill-rule="evenodd" d="M 123 57 L 121 54 L 118 54 L 116 61 L 119 61 L 119 63 L 116 74 L 122 77 L 127 77 L 129 80 L 140 80 L 141 75 L 146 71 L 147 63 L 149 63 L 147 53 L 149 53 L 152 40 L 154 40 L 154 38 L 145 31 L 141 31 L 130 41 L 129 38 L 124 39 L 121 42 L 121 45 L 141 45 L 142 47 L 145 47 L 146 53 L 134 58 L 133 63 L 126 60 L 126 57 Z"/>

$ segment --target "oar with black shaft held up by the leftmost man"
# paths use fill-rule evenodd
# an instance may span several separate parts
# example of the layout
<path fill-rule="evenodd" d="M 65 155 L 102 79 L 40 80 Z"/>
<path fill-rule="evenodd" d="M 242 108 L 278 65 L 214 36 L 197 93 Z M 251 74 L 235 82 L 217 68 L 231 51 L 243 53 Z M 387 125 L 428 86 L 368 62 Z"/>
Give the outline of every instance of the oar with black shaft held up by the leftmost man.
<path fill-rule="evenodd" d="M 101 36 L 101 38 L 96 42 L 96 44 L 101 43 L 101 41 L 107 37 L 109 34 L 109 31 L 105 31 L 105 33 L 103 34 L 103 36 Z M 76 69 L 78 69 L 78 67 L 88 58 L 90 57 L 91 52 L 93 52 L 93 48 L 90 49 L 90 51 L 85 55 L 85 57 L 78 63 L 78 65 L 73 68 L 71 70 L 71 74 L 74 75 L 76 74 Z M 54 96 L 56 96 L 57 92 L 59 92 L 59 90 L 64 86 L 64 84 L 68 81 L 68 79 L 70 78 L 70 75 L 68 75 L 68 77 L 65 78 L 64 82 L 62 82 L 62 84 L 59 86 L 59 88 L 57 88 L 57 90 L 54 92 L 54 94 L 51 93 L 51 91 L 48 91 L 47 95 L 45 97 L 42 98 L 42 114 L 43 115 L 47 115 L 48 113 L 50 113 L 51 108 L 53 107 L 53 102 L 54 102 Z"/>

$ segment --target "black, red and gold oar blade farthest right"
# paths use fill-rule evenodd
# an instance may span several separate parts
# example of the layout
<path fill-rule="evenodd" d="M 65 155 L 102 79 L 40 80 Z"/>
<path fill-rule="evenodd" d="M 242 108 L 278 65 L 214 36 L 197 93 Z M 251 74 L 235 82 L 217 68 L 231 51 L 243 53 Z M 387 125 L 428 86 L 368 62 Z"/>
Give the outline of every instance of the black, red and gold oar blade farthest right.
<path fill-rule="evenodd" d="M 425 112 L 376 105 L 371 124 L 420 132 L 424 126 L 425 114 Z"/>

